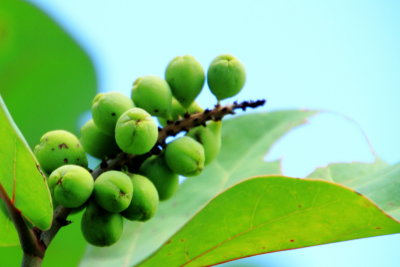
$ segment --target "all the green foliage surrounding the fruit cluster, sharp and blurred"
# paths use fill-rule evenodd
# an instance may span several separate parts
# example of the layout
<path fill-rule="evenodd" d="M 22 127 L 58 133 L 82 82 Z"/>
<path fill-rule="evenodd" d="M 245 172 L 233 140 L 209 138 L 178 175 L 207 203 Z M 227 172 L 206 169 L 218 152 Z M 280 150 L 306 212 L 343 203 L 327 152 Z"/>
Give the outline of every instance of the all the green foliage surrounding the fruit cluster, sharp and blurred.
<path fill-rule="evenodd" d="M 12 115 L 0 98 L 0 246 L 9 247 L 18 244 L 13 216 L 22 216 L 36 231 L 48 229 L 53 215 L 44 175 L 27 143 L 37 143 L 47 130 L 76 131 L 96 81 L 88 56 L 42 12 L 25 2 L 6 0 L 0 14 L 0 31 L 6 33 L 0 36 L 0 75 L 8 77 L 0 81 L 0 93 Z M 37 33 L 32 27 L 41 29 L 39 36 L 32 34 Z M 125 221 L 122 239 L 115 245 L 88 246 L 81 266 L 212 265 L 399 233 L 400 165 L 379 159 L 332 164 L 307 179 L 295 179 L 281 175 L 279 161 L 264 161 L 280 137 L 316 114 L 290 110 L 224 120 L 221 151 L 203 173 L 185 180 L 148 222 Z M 77 264 L 83 239 L 69 229 L 76 229 L 80 216 L 61 229 L 45 265 Z M 78 249 L 60 263 L 59 253 L 73 247 Z"/>

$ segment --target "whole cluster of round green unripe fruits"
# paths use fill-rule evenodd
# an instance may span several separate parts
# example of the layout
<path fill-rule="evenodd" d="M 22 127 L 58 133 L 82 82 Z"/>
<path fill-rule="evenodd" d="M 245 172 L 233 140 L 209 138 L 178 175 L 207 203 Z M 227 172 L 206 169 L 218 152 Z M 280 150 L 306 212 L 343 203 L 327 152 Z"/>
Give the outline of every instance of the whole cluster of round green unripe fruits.
<path fill-rule="evenodd" d="M 195 99 L 205 80 L 194 57 L 176 57 L 168 64 L 165 79 L 136 79 L 131 98 L 118 92 L 96 95 L 92 119 L 82 126 L 80 139 L 64 130 L 42 136 L 34 153 L 49 175 L 54 207 L 85 208 L 81 229 L 89 243 L 109 246 L 117 242 L 123 218 L 151 219 L 159 201 L 177 191 L 179 175 L 199 175 L 215 159 L 221 146 L 221 121 L 189 129 L 185 136 L 164 143 L 157 155 L 150 153 L 160 144 L 159 124 L 203 112 Z M 208 86 L 218 101 L 237 94 L 244 82 L 244 67 L 231 55 L 214 59 L 207 72 Z M 93 179 L 86 153 L 103 161 L 119 153 L 145 155 L 146 159 L 134 174 L 110 170 Z"/>

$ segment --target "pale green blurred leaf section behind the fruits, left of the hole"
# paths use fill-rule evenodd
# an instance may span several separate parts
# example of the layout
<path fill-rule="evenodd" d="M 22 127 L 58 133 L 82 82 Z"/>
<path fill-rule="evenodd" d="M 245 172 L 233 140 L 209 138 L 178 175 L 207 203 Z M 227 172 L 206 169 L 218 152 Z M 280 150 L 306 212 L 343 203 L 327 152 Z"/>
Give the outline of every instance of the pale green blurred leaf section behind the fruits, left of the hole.
<path fill-rule="evenodd" d="M 181 184 L 177 194 L 162 202 L 145 223 L 125 223 L 123 238 L 110 248 L 89 247 L 81 266 L 131 266 L 149 256 L 178 231 L 210 199 L 247 177 L 279 174 L 280 162 L 265 162 L 272 145 L 316 112 L 278 111 L 223 121 L 217 159 L 198 176 Z M 165 266 L 165 265 L 164 265 Z"/>

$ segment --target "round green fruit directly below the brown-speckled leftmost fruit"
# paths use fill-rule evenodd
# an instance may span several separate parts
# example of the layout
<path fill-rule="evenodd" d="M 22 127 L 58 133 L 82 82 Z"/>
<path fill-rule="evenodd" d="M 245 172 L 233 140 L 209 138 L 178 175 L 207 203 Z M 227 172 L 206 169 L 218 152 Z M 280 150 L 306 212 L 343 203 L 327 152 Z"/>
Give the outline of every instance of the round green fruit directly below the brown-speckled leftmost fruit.
<path fill-rule="evenodd" d="M 82 206 L 93 192 L 93 177 L 81 166 L 64 165 L 54 170 L 47 180 L 51 195 L 66 208 Z"/>

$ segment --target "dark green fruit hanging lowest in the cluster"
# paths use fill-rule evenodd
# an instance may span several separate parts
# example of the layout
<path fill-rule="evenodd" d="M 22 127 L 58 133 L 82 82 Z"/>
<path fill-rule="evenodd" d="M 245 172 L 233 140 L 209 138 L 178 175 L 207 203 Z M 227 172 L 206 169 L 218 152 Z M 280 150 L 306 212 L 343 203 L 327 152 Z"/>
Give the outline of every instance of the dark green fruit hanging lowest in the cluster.
<path fill-rule="evenodd" d="M 122 235 L 123 218 L 119 213 L 108 212 L 94 201 L 87 206 L 82 216 L 81 231 L 86 241 L 94 246 L 111 246 Z"/>

